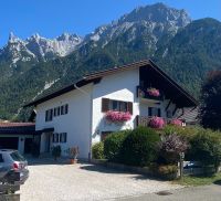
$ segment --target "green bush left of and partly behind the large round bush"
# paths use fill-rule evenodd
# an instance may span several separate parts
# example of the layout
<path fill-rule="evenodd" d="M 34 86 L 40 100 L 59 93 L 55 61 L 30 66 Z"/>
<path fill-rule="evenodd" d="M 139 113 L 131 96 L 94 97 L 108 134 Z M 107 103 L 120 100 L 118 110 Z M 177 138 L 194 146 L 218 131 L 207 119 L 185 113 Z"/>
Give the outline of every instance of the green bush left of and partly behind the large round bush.
<path fill-rule="evenodd" d="M 130 130 L 116 131 L 110 134 L 104 140 L 104 156 L 109 161 L 119 161 L 119 152 L 123 141 Z"/>

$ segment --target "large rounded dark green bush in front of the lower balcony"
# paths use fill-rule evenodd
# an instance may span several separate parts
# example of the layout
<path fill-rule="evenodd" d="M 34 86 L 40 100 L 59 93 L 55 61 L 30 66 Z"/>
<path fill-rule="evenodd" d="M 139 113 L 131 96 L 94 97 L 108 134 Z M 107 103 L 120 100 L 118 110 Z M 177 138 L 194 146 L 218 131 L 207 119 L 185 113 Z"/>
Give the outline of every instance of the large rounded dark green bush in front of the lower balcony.
<path fill-rule="evenodd" d="M 151 128 L 138 127 L 124 140 L 120 152 L 123 163 L 147 166 L 156 159 L 159 135 Z"/>

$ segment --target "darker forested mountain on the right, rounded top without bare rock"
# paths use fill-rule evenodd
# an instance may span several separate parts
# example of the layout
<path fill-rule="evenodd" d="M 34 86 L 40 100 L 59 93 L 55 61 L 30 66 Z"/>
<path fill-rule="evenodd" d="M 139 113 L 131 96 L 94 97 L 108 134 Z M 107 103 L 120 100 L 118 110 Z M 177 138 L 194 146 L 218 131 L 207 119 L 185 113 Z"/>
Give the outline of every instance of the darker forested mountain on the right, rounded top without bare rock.
<path fill-rule="evenodd" d="M 221 22 L 196 20 L 155 53 L 155 61 L 198 97 L 209 71 L 221 70 Z"/>

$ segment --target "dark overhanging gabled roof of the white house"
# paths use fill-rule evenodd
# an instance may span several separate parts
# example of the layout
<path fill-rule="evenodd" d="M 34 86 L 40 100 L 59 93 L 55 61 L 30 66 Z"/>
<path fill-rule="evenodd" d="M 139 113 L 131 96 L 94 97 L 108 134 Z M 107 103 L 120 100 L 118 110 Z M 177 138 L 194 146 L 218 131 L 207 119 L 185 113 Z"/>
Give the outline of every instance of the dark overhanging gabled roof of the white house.
<path fill-rule="evenodd" d="M 119 73 L 119 72 L 124 72 L 124 71 L 129 71 L 129 70 L 137 68 L 137 67 L 145 67 L 145 66 L 154 68 L 155 72 L 158 73 L 160 75 L 160 77 L 162 77 L 166 82 L 168 82 L 168 84 L 170 84 L 171 87 L 173 87 L 177 93 L 180 93 L 181 98 L 187 99 L 188 105 L 186 105 L 186 106 L 194 107 L 194 106 L 198 105 L 198 102 L 187 91 L 185 91 L 172 78 L 170 78 L 165 72 L 162 72 L 152 61 L 144 60 L 144 61 L 140 61 L 140 62 L 135 62 L 135 63 L 123 65 L 123 66 L 119 66 L 119 67 L 113 67 L 113 68 L 109 68 L 109 70 L 99 71 L 99 72 L 95 72 L 95 73 L 85 75 L 84 77 L 82 77 L 82 80 L 80 80 L 80 81 L 77 81 L 77 82 L 75 82 L 75 83 L 73 83 L 73 84 L 71 84 L 66 87 L 63 87 L 63 88 L 61 88 L 56 92 L 48 94 L 43 97 L 36 98 L 35 100 L 24 105 L 24 107 L 36 106 L 36 105 L 44 103 L 49 99 L 61 96 L 62 94 L 65 94 L 67 92 L 71 92 L 71 91 L 75 89 L 76 87 L 82 87 L 82 86 L 90 84 L 90 83 L 97 83 L 104 76 L 112 75 L 112 74 Z"/>

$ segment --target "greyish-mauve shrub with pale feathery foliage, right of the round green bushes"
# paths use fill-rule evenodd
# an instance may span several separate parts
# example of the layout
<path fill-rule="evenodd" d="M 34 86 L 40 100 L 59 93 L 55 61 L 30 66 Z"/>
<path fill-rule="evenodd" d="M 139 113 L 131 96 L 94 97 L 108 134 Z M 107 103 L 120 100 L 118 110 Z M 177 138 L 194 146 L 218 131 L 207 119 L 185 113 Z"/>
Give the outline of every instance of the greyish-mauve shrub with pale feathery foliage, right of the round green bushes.
<path fill-rule="evenodd" d="M 188 147 L 188 142 L 176 134 L 161 136 L 158 144 L 158 163 L 177 163 L 179 154 L 186 152 Z"/>

